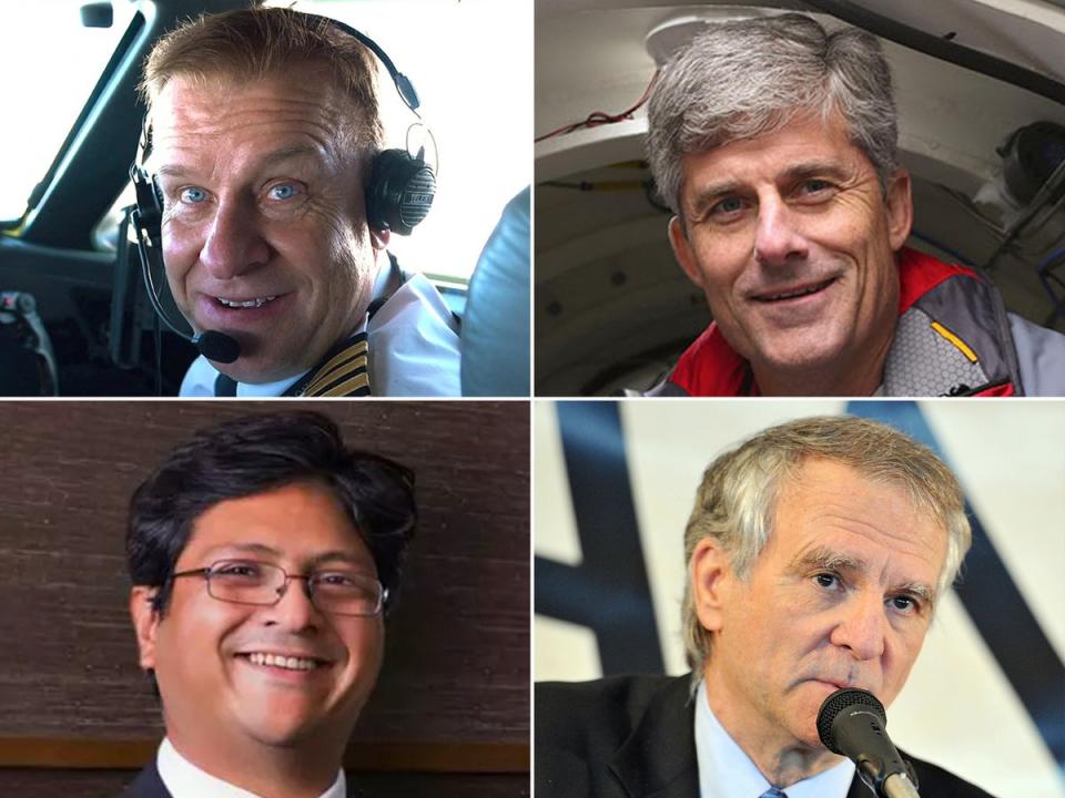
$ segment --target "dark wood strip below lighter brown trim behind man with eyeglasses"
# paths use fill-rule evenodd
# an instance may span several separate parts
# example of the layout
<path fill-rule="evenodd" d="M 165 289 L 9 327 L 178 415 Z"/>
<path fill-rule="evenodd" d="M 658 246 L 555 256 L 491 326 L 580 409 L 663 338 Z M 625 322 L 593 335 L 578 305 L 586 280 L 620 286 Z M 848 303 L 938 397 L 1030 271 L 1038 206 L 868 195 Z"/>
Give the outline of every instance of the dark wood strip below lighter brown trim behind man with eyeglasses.
<path fill-rule="evenodd" d="M 136 778 L 132 770 L 0 769 L 0 795 L 32 798 L 118 798 Z M 357 798 L 525 798 L 528 776 L 363 774 L 348 770 Z"/>

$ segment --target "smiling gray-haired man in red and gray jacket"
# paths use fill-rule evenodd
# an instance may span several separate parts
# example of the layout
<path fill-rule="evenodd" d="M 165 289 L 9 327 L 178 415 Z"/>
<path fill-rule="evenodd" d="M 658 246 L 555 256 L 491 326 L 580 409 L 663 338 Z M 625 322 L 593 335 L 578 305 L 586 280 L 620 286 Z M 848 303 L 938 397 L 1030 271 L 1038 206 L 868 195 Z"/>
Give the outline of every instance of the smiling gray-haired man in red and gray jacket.
<path fill-rule="evenodd" d="M 800 14 L 712 25 L 663 70 L 648 154 L 713 324 L 665 396 L 1062 396 L 1065 336 L 905 248 L 891 73 Z"/>

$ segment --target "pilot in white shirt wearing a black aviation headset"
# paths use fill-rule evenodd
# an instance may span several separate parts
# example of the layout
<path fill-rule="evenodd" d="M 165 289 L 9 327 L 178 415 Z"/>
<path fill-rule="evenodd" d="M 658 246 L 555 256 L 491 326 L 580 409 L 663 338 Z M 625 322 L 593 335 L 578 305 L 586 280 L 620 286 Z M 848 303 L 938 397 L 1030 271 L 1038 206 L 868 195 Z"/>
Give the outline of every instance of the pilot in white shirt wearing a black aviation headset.
<path fill-rule="evenodd" d="M 202 17 L 153 48 L 133 221 L 201 351 L 181 396 L 459 393 L 454 317 L 385 252 L 435 177 L 382 151 L 378 62 L 415 111 L 376 44 L 291 9 Z"/>

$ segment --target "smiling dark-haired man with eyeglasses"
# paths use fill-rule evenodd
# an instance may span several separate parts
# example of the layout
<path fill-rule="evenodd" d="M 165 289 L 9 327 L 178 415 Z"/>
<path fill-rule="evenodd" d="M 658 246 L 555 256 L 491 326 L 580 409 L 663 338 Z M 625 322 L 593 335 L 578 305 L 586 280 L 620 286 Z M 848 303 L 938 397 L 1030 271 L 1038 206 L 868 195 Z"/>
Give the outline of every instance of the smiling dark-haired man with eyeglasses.
<path fill-rule="evenodd" d="M 316 413 L 237 419 L 171 452 L 126 533 L 166 737 L 123 798 L 344 798 L 415 520 L 413 474 Z"/>

